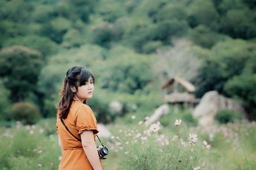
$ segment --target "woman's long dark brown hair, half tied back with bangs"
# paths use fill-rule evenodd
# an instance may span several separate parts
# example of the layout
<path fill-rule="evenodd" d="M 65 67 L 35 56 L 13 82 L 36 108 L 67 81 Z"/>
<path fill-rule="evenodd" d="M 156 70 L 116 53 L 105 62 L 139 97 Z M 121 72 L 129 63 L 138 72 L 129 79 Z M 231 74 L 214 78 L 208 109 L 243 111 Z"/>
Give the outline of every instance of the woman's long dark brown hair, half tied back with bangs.
<path fill-rule="evenodd" d="M 72 101 L 74 101 L 74 92 L 72 92 L 70 86 L 76 87 L 77 90 L 79 86 L 85 85 L 90 76 L 94 84 L 95 78 L 93 73 L 88 71 L 85 67 L 74 66 L 68 69 L 60 92 L 61 99 L 56 106 L 58 110 L 57 114 L 60 118 L 67 118 Z M 84 104 L 86 104 L 86 100 L 84 100 Z"/>

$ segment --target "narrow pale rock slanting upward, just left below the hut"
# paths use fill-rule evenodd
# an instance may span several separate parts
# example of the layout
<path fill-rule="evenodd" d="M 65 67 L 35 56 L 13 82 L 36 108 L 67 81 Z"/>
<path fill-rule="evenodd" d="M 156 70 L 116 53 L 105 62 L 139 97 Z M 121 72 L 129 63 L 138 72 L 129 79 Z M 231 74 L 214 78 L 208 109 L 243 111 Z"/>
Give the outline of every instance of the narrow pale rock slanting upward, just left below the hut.
<path fill-rule="evenodd" d="M 148 118 L 148 120 L 146 120 L 145 125 L 150 125 L 150 124 L 156 122 L 163 115 L 168 114 L 168 112 L 169 112 L 168 104 L 163 104 L 163 105 L 159 106 L 159 108 L 156 109 L 154 114 L 150 118 Z"/>

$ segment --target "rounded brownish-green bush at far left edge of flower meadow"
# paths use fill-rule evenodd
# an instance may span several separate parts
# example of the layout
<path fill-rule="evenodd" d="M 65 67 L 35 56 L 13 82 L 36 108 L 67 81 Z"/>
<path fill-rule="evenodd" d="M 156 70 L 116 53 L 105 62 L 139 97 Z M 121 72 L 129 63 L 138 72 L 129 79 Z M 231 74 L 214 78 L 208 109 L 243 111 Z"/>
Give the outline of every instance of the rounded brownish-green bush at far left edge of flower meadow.
<path fill-rule="evenodd" d="M 13 104 L 11 117 L 14 120 L 22 121 L 24 124 L 35 124 L 40 120 L 41 114 L 35 104 L 20 102 Z"/>

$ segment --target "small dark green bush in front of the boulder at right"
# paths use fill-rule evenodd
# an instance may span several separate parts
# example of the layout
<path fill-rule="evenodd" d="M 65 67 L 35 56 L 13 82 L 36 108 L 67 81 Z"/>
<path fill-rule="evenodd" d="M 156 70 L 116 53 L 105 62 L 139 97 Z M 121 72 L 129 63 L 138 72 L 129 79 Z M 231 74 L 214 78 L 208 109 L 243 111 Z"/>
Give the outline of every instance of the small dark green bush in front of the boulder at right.
<path fill-rule="evenodd" d="M 239 113 L 234 112 L 232 110 L 221 110 L 218 111 L 215 119 L 220 122 L 220 124 L 227 124 L 227 122 L 235 122 L 239 120 L 241 115 Z"/>

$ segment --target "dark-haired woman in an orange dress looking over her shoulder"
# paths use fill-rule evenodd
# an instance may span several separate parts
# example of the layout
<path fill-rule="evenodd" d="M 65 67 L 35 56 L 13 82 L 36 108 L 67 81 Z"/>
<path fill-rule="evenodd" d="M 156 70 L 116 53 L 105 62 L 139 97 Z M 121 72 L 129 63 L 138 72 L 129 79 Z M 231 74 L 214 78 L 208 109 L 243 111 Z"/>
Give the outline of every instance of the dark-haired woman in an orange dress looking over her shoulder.
<path fill-rule="evenodd" d="M 86 105 L 86 100 L 93 96 L 94 83 L 92 72 L 84 67 L 71 67 L 67 71 L 57 105 L 56 125 L 62 153 L 59 170 L 103 169 L 95 145 L 99 132 L 97 120 Z"/>

